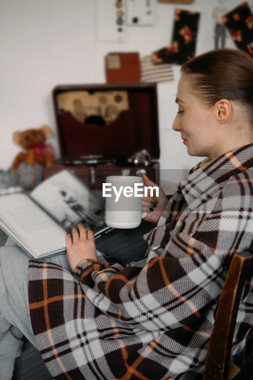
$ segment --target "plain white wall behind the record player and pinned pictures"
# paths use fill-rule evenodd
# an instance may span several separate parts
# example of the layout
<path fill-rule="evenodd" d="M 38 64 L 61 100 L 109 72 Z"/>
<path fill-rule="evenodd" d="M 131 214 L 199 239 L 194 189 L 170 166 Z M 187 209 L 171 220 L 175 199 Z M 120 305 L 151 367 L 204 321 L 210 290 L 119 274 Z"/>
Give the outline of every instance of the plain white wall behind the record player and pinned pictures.
<path fill-rule="evenodd" d="M 230 11 L 242 0 L 177 5 L 201 12 L 196 54 L 214 48 L 212 12 L 220 2 Z M 252 9 L 253 1 L 248 4 Z M 12 142 L 13 132 L 45 123 L 54 131 L 51 141 L 59 157 L 51 95 L 55 85 L 104 83 L 109 51 L 139 51 L 143 57 L 171 42 L 175 4 L 155 3 L 155 25 L 127 27 L 124 43 L 96 40 L 95 5 L 95 0 L 0 0 L 0 169 L 9 168 L 21 150 Z M 226 47 L 234 47 L 228 33 Z M 173 82 L 158 84 L 162 169 L 188 169 L 199 161 L 187 155 L 172 130 L 179 69 L 173 65 Z"/>

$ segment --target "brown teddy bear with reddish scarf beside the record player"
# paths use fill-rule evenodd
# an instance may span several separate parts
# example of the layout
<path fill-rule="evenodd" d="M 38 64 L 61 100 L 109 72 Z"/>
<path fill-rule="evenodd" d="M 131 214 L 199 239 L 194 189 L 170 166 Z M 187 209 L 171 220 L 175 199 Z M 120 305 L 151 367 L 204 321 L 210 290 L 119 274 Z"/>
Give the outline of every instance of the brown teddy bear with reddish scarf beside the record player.
<path fill-rule="evenodd" d="M 18 166 L 25 162 L 49 166 L 55 163 L 54 148 L 52 144 L 45 144 L 46 139 L 52 135 L 52 130 L 47 125 L 40 128 L 31 128 L 13 133 L 13 141 L 20 145 L 26 152 L 20 152 L 14 158 L 11 165 L 12 171 L 16 172 Z"/>

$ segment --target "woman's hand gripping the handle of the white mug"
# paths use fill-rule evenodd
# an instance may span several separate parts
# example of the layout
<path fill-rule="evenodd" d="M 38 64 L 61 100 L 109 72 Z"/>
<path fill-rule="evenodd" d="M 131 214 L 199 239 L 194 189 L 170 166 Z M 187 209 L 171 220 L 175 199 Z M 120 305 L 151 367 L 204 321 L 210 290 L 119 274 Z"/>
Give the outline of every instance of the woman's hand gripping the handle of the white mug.
<path fill-rule="evenodd" d="M 147 212 L 147 215 L 142 218 L 147 222 L 158 223 L 163 210 L 168 203 L 168 198 L 163 191 L 163 188 L 150 181 L 146 176 L 142 177 L 144 186 L 157 186 L 159 195 L 157 196 L 156 190 L 153 191 L 153 196 L 150 196 L 150 190 L 147 191 L 147 196 L 142 197 L 142 212 Z M 144 194 L 144 191 L 143 191 Z"/>

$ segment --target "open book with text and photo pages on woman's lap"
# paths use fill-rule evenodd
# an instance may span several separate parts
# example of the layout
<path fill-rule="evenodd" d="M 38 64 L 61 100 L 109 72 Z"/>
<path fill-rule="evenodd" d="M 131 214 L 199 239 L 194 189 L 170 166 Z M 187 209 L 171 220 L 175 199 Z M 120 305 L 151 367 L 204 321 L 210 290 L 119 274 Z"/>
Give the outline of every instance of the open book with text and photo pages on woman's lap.
<path fill-rule="evenodd" d="M 68 170 L 46 179 L 29 196 L 0 196 L 0 226 L 33 258 L 66 251 L 66 232 L 82 222 L 95 238 L 113 230 L 104 203 Z"/>

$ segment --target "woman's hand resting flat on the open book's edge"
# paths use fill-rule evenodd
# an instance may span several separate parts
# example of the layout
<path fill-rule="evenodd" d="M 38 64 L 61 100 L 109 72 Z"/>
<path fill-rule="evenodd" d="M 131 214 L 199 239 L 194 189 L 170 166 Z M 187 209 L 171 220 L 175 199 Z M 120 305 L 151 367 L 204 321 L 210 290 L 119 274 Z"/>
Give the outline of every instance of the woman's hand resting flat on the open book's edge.
<path fill-rule="evenodd" d="M 73 272 L 82 260 L 97 260 L 93 232 L 82 223 L 78 223 L 78 229 L 79 233 L 76 228 L 72 228 L 72 239 L 71 234 L 66 235 L 67 256 Z"/>

